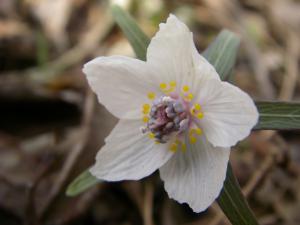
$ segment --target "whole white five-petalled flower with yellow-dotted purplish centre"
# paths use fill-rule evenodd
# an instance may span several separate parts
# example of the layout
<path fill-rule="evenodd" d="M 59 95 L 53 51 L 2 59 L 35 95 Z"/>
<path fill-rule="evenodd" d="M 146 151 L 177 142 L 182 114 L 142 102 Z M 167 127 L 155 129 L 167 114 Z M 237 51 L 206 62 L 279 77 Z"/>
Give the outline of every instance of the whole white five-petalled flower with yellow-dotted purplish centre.
<path fill-rule="evenodd" d="M 99 57 L 83 71 L 99 102 L 120 118 L 91 173 L 137 180 L 159 169 L 171 198 L 205 210 L 222 189 L 230 147 L 257 122 L 251 98 L 220 80 L 173 15 L 160 24 L 146 62 Z"/>

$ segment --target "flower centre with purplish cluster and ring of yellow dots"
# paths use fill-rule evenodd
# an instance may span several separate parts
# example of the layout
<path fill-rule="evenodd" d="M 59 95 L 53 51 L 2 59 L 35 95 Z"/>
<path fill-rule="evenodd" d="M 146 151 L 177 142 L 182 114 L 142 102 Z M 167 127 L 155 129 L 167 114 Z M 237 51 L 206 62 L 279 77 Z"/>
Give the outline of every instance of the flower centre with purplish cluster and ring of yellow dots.
<path fill-rule="evenodd" d="M 148 92 L 147 97 L 151 103 L 142 107 L 144 127 L 143 133 L 148 133 L 149 138 L 155 143 L 167 143 L 169 150 L 176 152 L 186 151 L 186 140 L 190 144 L 197 143 L 202 130 L 197 120 L 204 117 L 202 107 L 195 102 L 190 87 L 183 85 L 177 87 L 175 81 L 160 83 L 159 88 L 164 95 L 157 97 L 154 92 Z"/>

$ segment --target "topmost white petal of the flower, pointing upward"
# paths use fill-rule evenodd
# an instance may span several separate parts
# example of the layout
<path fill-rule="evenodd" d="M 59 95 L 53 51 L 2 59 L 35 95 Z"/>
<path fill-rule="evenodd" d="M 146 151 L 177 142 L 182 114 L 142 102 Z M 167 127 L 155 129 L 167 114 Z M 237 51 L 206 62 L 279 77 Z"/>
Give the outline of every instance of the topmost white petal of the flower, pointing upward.
<path fill-rule="evenodd" d="M 159 25 L 147 50 L 147 63 L 159 71 L 160 82 L 177 81 L 178 86 L 195 85 L 205 78 L 218 79 L 212 65 L 195 47 L 193 34 L 174 15 Z"/>

